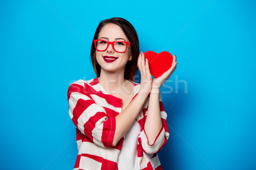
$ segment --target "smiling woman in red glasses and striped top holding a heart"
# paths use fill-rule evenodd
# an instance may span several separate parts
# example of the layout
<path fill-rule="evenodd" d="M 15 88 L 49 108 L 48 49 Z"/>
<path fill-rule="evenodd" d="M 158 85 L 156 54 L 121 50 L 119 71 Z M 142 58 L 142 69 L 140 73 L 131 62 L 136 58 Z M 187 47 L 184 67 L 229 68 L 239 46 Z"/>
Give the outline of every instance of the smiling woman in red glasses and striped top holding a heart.
<path fill-rule="evenodd" d="M 175 71 L 176 56 L 152 79 L 134 27 L 118 17 L 99 23 L 90 55 L 97 78 L 68 89 L 79 150 L 74 170 L 162 169 L 157 152 L 169 131 L 159 90 Z M 132 81 L 138 68 L 141 84 Z"/>

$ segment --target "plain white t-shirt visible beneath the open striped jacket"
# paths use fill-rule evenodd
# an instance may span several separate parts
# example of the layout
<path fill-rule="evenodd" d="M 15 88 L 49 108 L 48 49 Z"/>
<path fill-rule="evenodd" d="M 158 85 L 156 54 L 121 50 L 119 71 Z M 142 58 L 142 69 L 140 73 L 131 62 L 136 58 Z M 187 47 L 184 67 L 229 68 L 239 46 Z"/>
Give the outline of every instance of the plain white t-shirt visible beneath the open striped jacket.
<path fill-rule="evenodd" d="M 117 161 L 118 170 L 139 170 L 137 163 L 137 141 L 140 129 L 140 124 L 135 119 L 125 133 L 125 140 Z"/>

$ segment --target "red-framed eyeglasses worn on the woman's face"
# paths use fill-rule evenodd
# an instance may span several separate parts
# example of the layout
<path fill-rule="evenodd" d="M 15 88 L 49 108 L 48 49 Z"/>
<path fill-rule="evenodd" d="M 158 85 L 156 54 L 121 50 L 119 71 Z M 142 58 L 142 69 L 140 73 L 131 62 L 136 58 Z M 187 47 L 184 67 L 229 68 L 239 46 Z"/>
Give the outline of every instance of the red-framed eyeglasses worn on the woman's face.
<path fill-rule="evenodd" d="M 131 42 L 126 41 L 106 41 L 106 40 L 93 40 L 95 48 L 97 51 L 105 51 L 108 46 L 111 44 L 114 51 L 118 53 L 124 53 L 127 49 L 127 46 L 131 46 Z"/>

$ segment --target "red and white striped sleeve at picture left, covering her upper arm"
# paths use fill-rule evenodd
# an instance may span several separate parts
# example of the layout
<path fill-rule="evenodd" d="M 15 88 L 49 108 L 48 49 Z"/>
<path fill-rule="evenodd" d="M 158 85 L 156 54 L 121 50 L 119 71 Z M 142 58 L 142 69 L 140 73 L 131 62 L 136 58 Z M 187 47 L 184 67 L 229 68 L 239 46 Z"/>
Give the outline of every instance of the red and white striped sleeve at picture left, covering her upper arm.
<path fill-rule="evenodd" d="M 81 133 L 100 147 L 114 147 L 115 117 L 109 117 L 105 108 L 95 103 L 82 84 L 71 84 L 67 98 L 70 118 Z"/>

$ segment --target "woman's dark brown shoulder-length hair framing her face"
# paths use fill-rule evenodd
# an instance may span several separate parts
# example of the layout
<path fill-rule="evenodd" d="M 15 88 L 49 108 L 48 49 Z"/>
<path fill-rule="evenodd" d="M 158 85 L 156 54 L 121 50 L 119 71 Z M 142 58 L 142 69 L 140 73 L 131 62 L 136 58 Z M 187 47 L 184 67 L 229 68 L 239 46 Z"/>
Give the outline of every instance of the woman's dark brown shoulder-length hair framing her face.
<path fill-rule="evenodd" d="M 127 20 L 119 17 L 114 17 L 111 19 L 102 20 L 99 23 L 99 26 L 95 31 L 93 40 L 98 39 L 99 32 L 101 31 L 102 27 L 109 23 L 113 23 L 121 27 L 122 31 L 124 31 L 128 40 L 131 42 L 132 57 L 131 57 L 131 60 L 128 60 L 125 66 L 125 79 L 132 80 L 138 70 L 137 62 L 138 62 L 138 56 L 140 54 L 140 45 L 139 45 L 139 38 L 138 38 L 137 32 L 134 29 L 134 27 L 131 25 L 131 23 L 129 23 Z M 95 49 L 94 43 L 92 43 L 92 46 L 91 46 L 90 57 L 91 57 L 91 61 L 92 61 L 96 76 L 99 77 L 101 66 L 96 60 L 96 49 Z"/>

